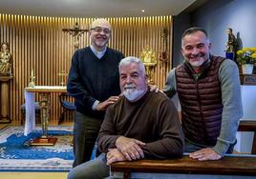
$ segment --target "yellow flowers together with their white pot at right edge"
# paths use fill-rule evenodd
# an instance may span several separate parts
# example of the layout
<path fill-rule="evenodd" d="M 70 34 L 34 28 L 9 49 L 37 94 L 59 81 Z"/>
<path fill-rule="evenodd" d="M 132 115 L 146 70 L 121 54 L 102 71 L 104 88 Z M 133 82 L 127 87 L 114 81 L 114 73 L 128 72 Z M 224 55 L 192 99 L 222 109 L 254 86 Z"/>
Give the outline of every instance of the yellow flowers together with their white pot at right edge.
<path fill-rule="evenodd" d="M 237 51 L 237 61 L 242 65 L 244 74 L 252 74 L 256 64 L 256 48 L 244 48 Z"/>

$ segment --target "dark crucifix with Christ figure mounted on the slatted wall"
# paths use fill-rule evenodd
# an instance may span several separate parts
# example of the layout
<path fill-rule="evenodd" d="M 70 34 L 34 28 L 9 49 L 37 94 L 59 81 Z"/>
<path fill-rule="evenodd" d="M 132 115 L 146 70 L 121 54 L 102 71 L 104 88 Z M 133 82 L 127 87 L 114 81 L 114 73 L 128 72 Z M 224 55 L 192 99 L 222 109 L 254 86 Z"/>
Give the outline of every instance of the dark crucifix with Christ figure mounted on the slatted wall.
<path fill-rule="evenodd" d="M 75 23 L 74 29 L 63 29 L 65 32 L 69 32 L 74 37 L 75 50 L 79 48 L 79 37 L 88 30 L 81 30 L 78 23 Z"/>

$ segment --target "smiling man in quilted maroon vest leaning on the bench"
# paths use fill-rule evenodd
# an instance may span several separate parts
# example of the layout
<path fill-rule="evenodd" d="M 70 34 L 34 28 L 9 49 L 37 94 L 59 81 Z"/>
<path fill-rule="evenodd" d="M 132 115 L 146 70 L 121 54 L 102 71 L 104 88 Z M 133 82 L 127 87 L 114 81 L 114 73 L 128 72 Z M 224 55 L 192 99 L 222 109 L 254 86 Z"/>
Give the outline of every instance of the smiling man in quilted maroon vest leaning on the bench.
<path fill-rule="evenodd" d="M 236 144 L 243 116 L 239 70 L 235 62 L 210 54 L 205 30 L 185 30 L 181 40 L 184 62 L 168 74 L 163 91 L 178 93 L 185 152 L 205 161 L 218 160 Z"/>

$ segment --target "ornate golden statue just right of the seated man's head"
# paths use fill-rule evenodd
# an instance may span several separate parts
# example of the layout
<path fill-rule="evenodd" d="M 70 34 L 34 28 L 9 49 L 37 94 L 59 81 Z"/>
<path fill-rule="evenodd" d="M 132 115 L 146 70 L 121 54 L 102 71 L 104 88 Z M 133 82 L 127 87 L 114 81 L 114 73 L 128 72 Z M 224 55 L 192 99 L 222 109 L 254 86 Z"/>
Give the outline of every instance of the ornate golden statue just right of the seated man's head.
<path fill-rule="evenodd" d="M 147 46 L 144 50 L 142 50 L 140 54 L 140 60 L 143 62 L 146 73 L 148 76 L 148 83 L 154 84 L 152 76 L 153 69 L 157 65 L 156 53 Z"/>

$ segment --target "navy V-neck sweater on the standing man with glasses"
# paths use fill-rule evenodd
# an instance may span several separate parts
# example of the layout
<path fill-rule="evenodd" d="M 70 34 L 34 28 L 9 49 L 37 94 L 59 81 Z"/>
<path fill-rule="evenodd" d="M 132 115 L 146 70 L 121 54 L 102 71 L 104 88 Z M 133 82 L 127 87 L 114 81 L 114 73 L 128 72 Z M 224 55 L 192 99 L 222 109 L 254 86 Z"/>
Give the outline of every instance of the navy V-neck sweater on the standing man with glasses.
<path fill-rule="evenodd" d="M 67 90 L 75 97 L 77 111 L 103 118 L 104 111 L 93 110 L 92 106 L 96 100 L 103 102 L 120 94 L 118 63 L 122 58 L 121 52 L 110 48 L 101 59 L 90 47 L 75 51 Z"/>

